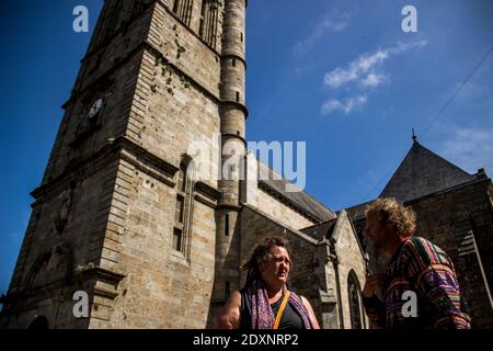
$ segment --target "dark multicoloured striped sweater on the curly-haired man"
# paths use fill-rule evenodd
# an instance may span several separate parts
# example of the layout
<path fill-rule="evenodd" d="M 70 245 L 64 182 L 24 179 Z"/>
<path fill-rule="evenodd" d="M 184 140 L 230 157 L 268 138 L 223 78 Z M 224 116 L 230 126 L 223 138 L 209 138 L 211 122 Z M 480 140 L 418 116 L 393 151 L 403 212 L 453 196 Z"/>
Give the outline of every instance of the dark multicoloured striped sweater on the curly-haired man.
<path fill-rule="evenodd" d="M 404 317 L 411 310 L 413 294 L 404 295 L 409 291 L 416 296 L 416 317 Z M 376 296 L 363 298 L 368 318 L 379 328 L 470 328 L 450 258 L 424 238 L 403 240 L 387 265 L 382 292 L 385 303 Z"/>

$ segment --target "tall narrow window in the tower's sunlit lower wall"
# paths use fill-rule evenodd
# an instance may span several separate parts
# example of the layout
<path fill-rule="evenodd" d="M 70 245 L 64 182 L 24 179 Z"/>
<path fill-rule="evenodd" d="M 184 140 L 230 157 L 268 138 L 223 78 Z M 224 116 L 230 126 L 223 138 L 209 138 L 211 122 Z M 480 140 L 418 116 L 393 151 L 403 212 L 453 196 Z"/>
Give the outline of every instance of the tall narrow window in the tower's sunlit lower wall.
<path fill-rule="evenodd" d="M 177 172 L 176 205 L 174 212 L 173 249 L 190 258 L 194 203 L 194 162 L 183 156 Z"/>

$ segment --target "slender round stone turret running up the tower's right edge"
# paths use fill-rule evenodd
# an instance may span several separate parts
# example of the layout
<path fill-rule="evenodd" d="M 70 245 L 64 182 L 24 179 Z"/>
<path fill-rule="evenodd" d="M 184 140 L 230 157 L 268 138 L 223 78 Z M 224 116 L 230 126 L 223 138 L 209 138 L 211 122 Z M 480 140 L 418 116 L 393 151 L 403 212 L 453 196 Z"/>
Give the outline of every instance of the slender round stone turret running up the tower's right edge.
<path fill-rule="evenodd" d="M 216 242 L 216 278 L 209 322 L 233 290 L 240 288 L 240 184 L 245 154 L 245 0 L 226 1 L 221 55 L 222 169 Z"/>

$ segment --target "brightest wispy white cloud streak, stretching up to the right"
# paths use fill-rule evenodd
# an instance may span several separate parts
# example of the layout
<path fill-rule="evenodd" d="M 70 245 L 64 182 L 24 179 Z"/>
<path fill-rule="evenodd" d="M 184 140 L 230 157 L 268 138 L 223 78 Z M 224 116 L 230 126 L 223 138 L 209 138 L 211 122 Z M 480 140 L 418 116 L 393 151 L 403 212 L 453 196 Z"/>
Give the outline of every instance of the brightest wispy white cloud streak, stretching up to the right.
<path fill-rule="evenodd" d="M 348 82 L 359 81 L 366 88 L 378 87 L 389 80 L 386 75 L 376 71 L 378 67 L 382 66 L 392 55 L 399 55 L 412 48 L 420 48 L 426 44 L 426 41 L 408 44 L 398 43 L 395 46 L 379 49 L 372 54 L 363 54 L 351 61 L 347 67 L 337 67 L 325 73 L 324 84 L 331 88 L 340 88 Z"/>

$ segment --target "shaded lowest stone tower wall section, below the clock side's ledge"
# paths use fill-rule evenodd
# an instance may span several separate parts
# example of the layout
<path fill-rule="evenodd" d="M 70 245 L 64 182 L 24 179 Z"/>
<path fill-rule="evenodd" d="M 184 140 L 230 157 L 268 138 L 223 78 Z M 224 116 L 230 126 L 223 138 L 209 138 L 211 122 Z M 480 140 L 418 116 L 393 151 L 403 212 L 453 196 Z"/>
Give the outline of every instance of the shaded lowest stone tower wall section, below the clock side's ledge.
<path fill-rule="evenodd" d="M 72 314 L 76 291 L 92 297 L 94 283 L 80 273 L 94 267 L 101 247 L 94 242 L 107 223 L 117 172 L 111 150 L 72 169 L 33 195 L 33 213 L 9 288 L 1 324 L 26 328 L 35 315 L 50 328 L 87 328 L 88 319 Z"/>

